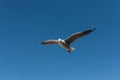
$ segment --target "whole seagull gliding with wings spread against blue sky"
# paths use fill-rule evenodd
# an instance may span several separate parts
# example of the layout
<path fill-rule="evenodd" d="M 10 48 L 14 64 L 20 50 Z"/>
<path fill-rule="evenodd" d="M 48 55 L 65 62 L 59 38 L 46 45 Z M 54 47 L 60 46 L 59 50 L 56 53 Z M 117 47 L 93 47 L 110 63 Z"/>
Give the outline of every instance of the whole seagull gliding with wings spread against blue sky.
<path fill-rule="evenodd" d="M 75 50 L 75 48 L 71 47 L 70 44 L 72 42 L 74 42 L 76 39 L 79 39 L 79 38 L 93 32 L 95 29 L 96 28 L 85 30 L 83 32 L 74 33 L 66 39 L 61 39 L 61 38 L 59 38 L 58 40 L 49 39 L 49 40 L 41 42 L 41 44 L 58 44 L 61 47 L 65 48 L 69 53 L 71 53 L 72 51 Z"/>

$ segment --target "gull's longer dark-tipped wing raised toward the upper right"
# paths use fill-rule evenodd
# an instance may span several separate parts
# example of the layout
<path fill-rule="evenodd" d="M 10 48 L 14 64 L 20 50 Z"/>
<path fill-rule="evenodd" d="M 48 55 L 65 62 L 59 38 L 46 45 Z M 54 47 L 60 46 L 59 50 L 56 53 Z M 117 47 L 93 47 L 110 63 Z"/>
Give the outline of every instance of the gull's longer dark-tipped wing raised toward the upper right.
<path fill-rule="evenodd" d="M 83 32 L 77 32 L 77 33 L 74 33 L 72 34 L 70 37 L 68 37 L 65 41 L 67 44 L 70 44 L 72 43 L 74 40 L 80 38 L 80 37 L 83 37 L 89 33 L 91 33 L 92 31 L 94 31 L 96 28 L 93 28 L 93 29 L 90 29 L 90 30 L 86 30 L 86 31 L 83 31 Z"/>

